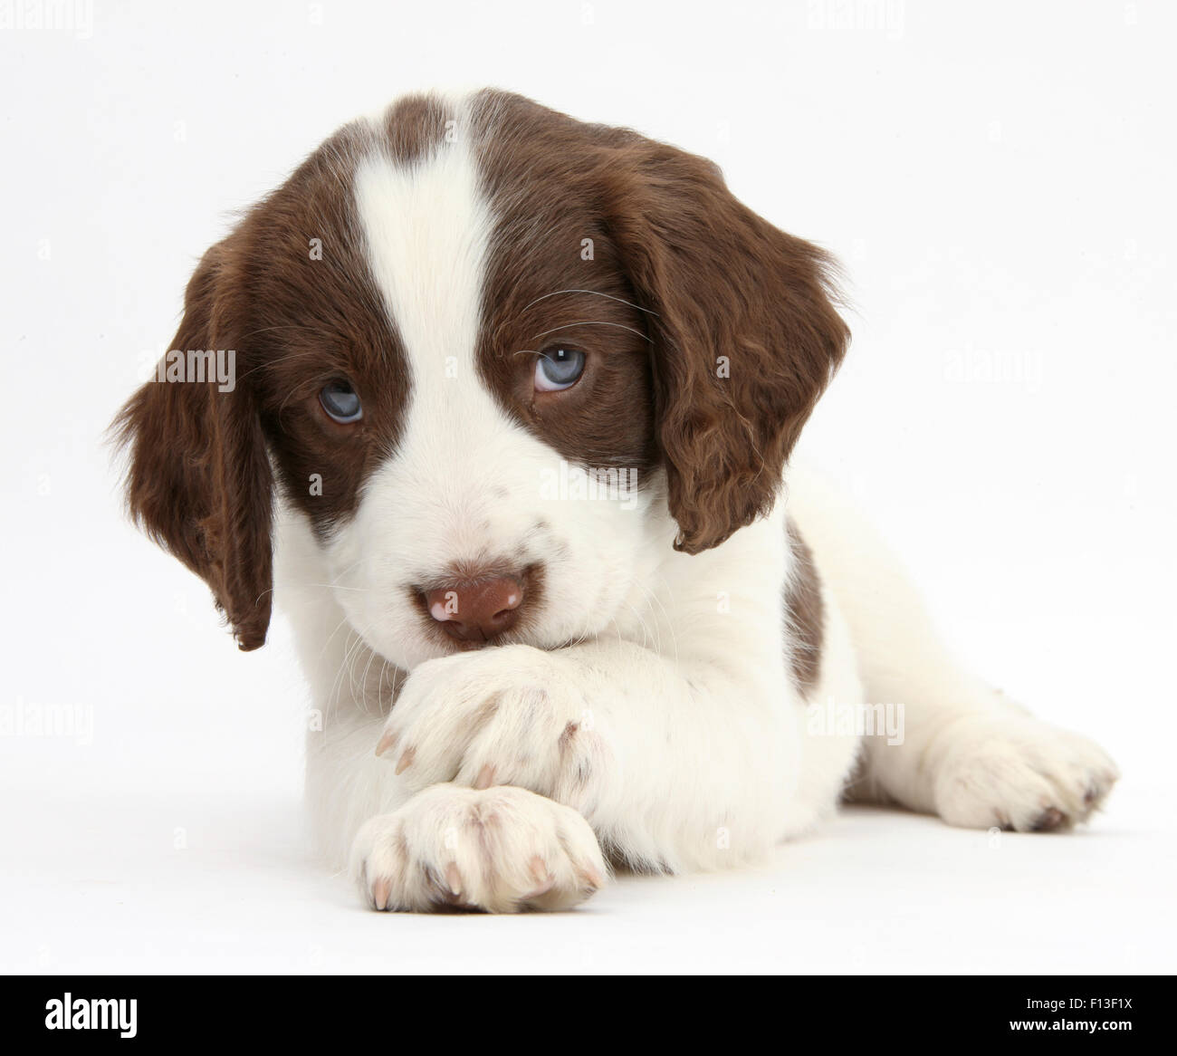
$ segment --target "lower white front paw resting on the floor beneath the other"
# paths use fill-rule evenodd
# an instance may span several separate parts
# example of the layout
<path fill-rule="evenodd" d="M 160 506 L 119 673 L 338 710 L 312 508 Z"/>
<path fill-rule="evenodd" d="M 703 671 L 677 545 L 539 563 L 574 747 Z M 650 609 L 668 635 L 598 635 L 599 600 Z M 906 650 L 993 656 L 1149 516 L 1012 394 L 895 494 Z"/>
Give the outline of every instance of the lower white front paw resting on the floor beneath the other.
<path fill-rule="evenodd" d="M 605 883 L 588 823 L 524 789 L 435 785 L 355 836 L 351 874 L 371 909 L 568 909 Z"/>

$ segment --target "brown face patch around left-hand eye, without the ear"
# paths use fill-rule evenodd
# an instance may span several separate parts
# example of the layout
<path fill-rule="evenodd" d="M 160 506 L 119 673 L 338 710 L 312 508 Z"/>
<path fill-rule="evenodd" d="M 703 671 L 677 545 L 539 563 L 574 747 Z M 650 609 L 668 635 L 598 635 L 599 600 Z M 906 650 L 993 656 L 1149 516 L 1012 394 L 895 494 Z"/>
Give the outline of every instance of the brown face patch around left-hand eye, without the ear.
<path fill-rule="evenodd" d="M 246 380 L 285 493 L 320 534 L 354 512 L 364 480 L 397 443 L 408 398 L 404 350 L 370 274 L 351 190 L 372 150 L 363 126 L 344 129 L 231 237 L 241 243 L 228 283 L 240 301 Z M 321 259 L 311 239 L 321 240 Z M 324 413 L 319 392 L 332 380 L 359 394 L 360 421 L 339 425 Z"/>

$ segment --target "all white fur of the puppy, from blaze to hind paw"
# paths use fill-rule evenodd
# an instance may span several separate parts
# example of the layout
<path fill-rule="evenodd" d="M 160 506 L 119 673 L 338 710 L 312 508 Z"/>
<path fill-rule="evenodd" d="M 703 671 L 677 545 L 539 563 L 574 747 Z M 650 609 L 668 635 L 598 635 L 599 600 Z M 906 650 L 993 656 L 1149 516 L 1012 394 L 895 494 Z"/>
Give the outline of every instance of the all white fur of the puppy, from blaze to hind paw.
<path fill-rule="evenodd" d="M 650 869 L 754 861 L 832 811 L 855 765 L 859 729 L 814 733 L 806 705 L 822 702 L 905 705 L 902 745 L 865 738 L 859 791 L 957 824 L 1086 817 L 1112 764 L 959 672 L 890 556 L 819 484 L 796 474 L 771 516 L 696 557 L 672 549 L 661 481 L 636 509 L 543 496 L 559 456 L 474 365 L 493 217 L 464 132 L 411 167 L 361 167 L 407 418 L 353 520 L 321 544 L 287 511 L 279 536 L 278 597 L 321 716 L 315 828 L 370 904 L 568 905 L 599 885 L 598 842 Z M 824 584 L 809 702 L 782 619 L 786 505 Z M 544 564 L 530 644 L 446 656 L 424 633 L 408 587 L 461 559 Z"/>

